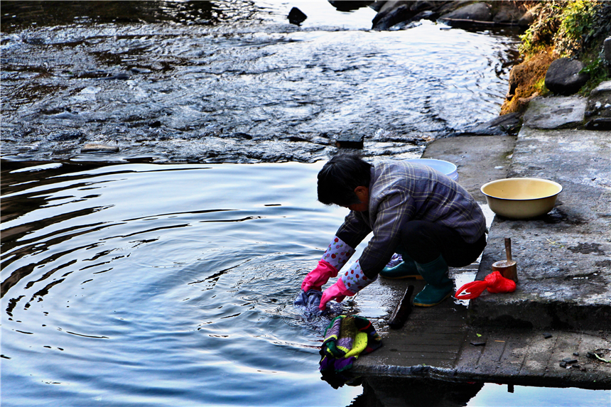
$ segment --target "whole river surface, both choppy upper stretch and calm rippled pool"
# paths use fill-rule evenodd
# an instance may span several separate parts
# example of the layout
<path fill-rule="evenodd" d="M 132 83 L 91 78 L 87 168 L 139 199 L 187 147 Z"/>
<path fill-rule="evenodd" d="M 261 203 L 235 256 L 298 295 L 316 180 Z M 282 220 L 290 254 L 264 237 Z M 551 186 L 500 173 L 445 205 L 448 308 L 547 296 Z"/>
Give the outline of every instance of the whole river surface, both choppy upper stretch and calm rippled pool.
<path fill-rule="evenodd" d="M 430 22 L 372 32 L 373 16 L 3 2 L 3 406 L 361 405 L 362 386 L 318 373 L 329 319 L 292 305 L 345 215 L 315 175 L 341 134 L 411 158 L 492 119 L 515 46 Z M 486 384 L 468 405 L 608 396 Z"/>

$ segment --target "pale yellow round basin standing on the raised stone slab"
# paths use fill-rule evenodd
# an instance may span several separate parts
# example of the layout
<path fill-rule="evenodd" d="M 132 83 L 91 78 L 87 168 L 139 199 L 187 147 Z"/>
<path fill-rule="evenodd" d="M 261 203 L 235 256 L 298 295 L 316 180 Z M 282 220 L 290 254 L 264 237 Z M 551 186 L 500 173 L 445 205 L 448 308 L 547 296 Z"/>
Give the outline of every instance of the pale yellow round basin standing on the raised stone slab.
<path fill-rule="evenodd" d="M 495 214 L 531 219 L 553 209 L 562 185 L 541 178 L 507 178 L 482 185 L 480 190 Z"/>

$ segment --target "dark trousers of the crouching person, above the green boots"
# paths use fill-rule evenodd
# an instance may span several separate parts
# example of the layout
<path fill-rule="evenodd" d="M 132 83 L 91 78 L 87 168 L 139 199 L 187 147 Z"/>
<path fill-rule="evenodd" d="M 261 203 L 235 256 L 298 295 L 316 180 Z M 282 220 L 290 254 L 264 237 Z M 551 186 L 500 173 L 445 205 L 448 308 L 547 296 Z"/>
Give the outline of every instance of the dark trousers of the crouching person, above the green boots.
<path fill-rule="evenodd" d="M 401 248 L 416 262 L 429 263 L 443 256 L 452 267 L 472 264 L 486 246 L 486 234 L 467 243 L 454 229 L 442 224 L 412 220 L 401 227 Z"/>

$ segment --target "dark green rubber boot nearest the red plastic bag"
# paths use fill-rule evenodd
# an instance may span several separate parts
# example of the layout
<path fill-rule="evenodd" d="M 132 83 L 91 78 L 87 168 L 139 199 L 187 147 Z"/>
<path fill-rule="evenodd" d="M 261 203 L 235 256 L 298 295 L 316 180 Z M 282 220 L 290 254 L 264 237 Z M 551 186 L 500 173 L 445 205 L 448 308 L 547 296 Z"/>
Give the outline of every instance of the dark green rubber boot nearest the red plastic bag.
<path fill-rule="evenodd" d="M 448 264 L 442 256 L 430 263 L 416 263 L 416 268 L 426 281 L 426 286 L 413 298 L 416 307 L 433 307 L 454 293 L 454 282 L 448 277 Z"/>

